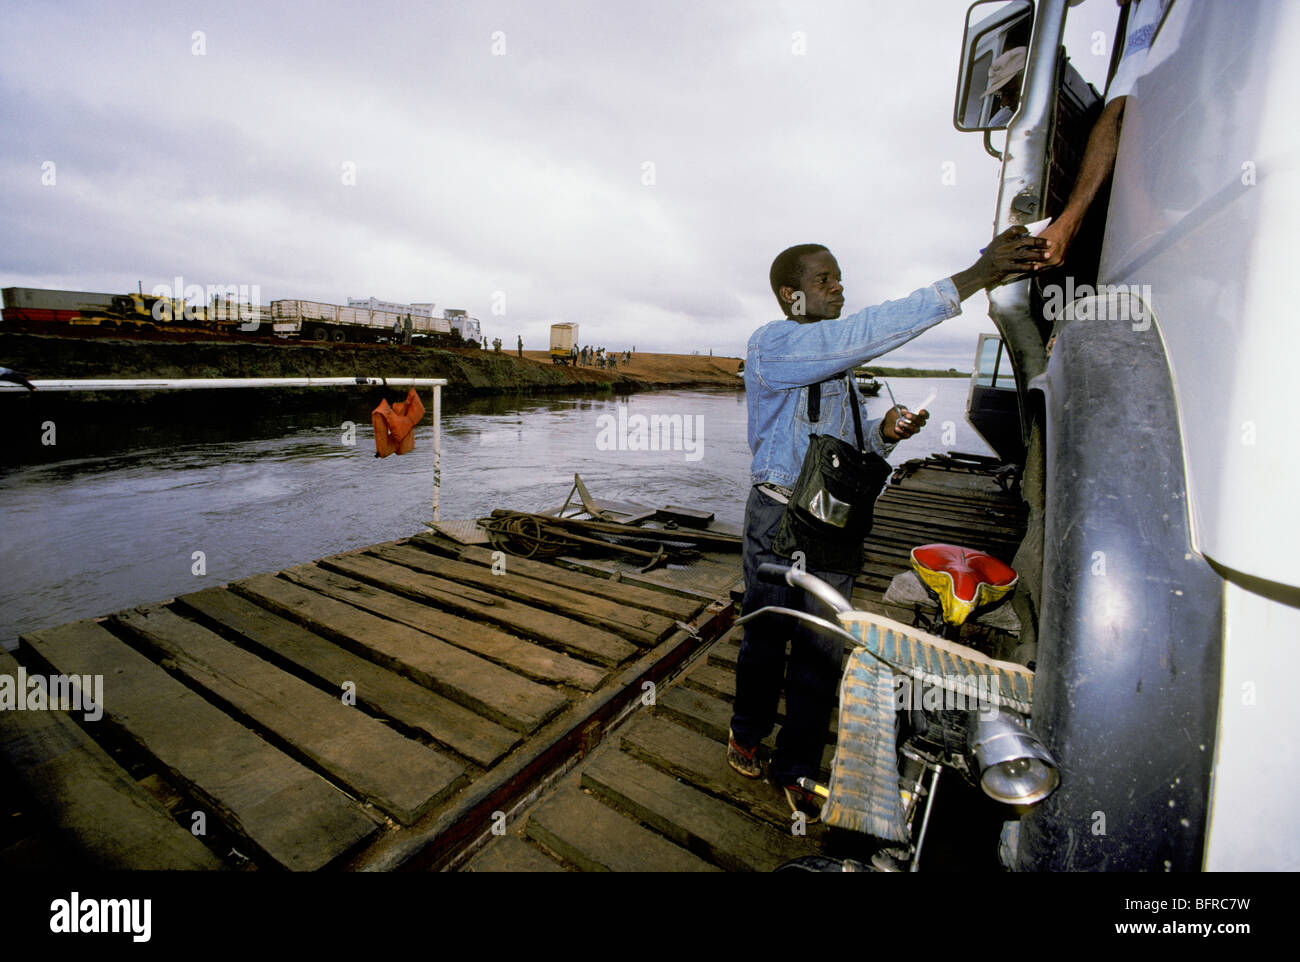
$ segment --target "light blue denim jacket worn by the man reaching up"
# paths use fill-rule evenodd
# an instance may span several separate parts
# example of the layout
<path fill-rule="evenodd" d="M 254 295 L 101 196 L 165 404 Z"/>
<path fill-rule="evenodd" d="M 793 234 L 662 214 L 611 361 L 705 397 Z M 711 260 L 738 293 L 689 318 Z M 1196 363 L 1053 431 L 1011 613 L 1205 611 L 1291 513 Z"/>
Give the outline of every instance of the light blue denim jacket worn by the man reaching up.
<path fill-rule="evenodd" d="M 745 355 L 753 484 L 793 488 L 810 434 L 833 434 L 857 443 L 848 378 L 822 385 L 816 424 L 807 419 L 809 385 L 888 354 L 961 312 L 957 287 L 945 278 L 848 317 L 809 324 L 772 321 L 755 330 Z M 880 437 L 880 420 L 863 417 L 862 434 L 867 450 L 884 456 L 893 445 Z"/>

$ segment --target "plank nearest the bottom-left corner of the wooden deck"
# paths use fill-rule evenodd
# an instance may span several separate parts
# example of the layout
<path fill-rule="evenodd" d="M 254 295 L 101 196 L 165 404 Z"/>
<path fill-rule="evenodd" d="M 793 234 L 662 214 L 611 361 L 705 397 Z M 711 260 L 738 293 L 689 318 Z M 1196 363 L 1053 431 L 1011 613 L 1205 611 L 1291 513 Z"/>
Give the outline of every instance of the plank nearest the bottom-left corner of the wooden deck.
<path fill-rule="evenodd" d="M 0 676 L 17 684 L 18 662 L 6 651 L 0 651 Z M 58 835 L 94 867 L 222 867 L 65 712 L 0 711 L 0 755 Z"/>

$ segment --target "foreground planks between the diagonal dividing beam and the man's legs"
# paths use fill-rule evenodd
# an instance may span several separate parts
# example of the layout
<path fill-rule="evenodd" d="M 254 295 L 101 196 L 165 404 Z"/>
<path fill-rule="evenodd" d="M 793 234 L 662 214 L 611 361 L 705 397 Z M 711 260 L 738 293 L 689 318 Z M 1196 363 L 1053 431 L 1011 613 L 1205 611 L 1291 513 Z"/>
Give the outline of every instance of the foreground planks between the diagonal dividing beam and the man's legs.
<path fill-rule="evenodd" d="M 712 649 L 738 649 L 741 630 L 733 629 Z M 771 871 L 792 858 L 819 854 L 824 826 L 797 826 L 774 785 L 741 777 L 727 764 L 731 703 L 693 685 L 697 675 L 719 672 L 731 676 L 734 690 L 734 662 L 728 670 L 712 658 L 698 658 L 658 693 L 653 708 L 637 711 L 572 775 L 459 867 Z M 827 748 L 828 763 L 832 746 Z"/>

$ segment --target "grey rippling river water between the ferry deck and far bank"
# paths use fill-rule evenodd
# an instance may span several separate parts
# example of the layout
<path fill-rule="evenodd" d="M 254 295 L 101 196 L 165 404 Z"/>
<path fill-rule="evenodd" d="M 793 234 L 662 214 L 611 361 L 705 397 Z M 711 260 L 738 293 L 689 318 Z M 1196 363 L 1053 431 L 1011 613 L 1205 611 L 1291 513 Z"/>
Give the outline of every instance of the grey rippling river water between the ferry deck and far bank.
<path fill-rule="evenodd" d="M 937 393 L 930 425 L 890 462 L 989 454 L 963 417 L 967 380 L 890 385 L 902 404 Z M 868 400 L 872 417 L 888 406 L 888 396 Z M 682 430 L 666 450 L 627 450 L 638 415 L 680 417 Z M 745 422 L 745 394 L 736 391 L 446 398 L 441 516 L 555 507 L 578 472 L 597 498 L 702 508 L 738 525 L 749 485 Z M 105 429 L 83 450 L 60 443 L 0 467 L 0 642 L 12 649 L 23 632 L 424 530 L 429 419 L 411 454 L 373 455 L 368 406 L 322 404 L 216 430 Z"/>

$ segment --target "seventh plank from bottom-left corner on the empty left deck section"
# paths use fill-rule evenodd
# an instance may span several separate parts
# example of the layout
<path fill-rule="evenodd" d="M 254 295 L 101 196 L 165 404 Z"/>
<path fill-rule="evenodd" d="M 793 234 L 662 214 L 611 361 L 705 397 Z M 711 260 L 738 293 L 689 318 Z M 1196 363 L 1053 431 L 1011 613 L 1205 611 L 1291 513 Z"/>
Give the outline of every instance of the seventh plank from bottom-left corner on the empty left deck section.
<path fill-rule="evenodd" d="M 317 564 L 425 604 L 434 604 L 445 612 L 499 625 L 598 664 L 612 667 L 633 658 L 637 653 L 636 645 L 601 628 L 578 624 L 562 615 L 540 611 L 510 598 L 499 598 L 455 581 L 412 571 L 382 558 L 347 554 L 322 558 Z M 430 624 L 439 624 L 443 630 L 455 630 L 452 625 L 437 620 L 433 615 Z"/>

